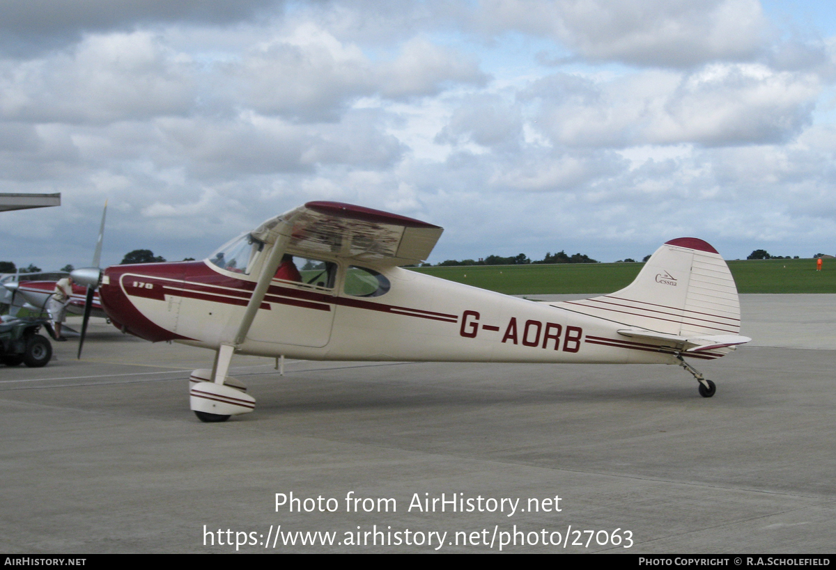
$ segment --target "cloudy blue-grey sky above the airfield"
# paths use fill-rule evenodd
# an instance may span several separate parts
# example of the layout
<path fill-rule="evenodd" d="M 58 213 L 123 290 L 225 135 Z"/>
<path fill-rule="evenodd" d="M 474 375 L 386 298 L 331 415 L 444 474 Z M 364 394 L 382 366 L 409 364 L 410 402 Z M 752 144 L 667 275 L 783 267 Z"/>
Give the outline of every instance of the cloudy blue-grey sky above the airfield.
<path fill-rule="evenodd" d="M 788 0 L 0 0 L 0 259 L 205 257 L 304 201 L 432 262 L 836 254 L 836 8 Z"/>

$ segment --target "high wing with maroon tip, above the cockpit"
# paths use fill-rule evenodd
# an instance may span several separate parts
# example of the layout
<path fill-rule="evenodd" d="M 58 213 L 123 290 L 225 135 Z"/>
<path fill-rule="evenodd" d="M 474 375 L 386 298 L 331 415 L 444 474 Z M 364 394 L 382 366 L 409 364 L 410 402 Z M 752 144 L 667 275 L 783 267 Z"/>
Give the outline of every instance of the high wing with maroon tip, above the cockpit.
<path fill-rule="evenodd" d="M 430 257 L 444 229 L 425 221 L 353 206 L 311 201 L 264 221 L 252 236 L 274 243 L 289 237 L 288 252 L 328 253 L 375 265 L 410 265 Z"/>

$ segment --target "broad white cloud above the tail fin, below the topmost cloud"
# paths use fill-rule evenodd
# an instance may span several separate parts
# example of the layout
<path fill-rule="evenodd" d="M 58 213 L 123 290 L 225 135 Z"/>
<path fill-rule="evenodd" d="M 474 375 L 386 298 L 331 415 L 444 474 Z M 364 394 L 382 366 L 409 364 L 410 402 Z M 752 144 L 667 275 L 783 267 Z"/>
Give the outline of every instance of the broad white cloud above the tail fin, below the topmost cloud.
<path fill-rule="evenodd" d="M 563 145 L 747 145 L 788 140 L 811 121 L 817 76 L 762 64 L 710 64 L 596 81 L 566 74 L 525 94 L 540 128 Z"/>

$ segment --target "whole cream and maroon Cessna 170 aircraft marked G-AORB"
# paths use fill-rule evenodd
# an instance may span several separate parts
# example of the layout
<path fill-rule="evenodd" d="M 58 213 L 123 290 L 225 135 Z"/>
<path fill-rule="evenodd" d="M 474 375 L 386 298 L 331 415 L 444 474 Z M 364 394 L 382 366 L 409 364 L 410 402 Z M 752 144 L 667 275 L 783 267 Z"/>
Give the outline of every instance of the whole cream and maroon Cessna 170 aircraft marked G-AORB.
<path fill-rule="evenodd" d="M 190 382 L 191 410 L 208 422 L 255 408 L 243 384 L 227 375 L 233 354 L 679 364 L 709 398 L 715 384 L 685 358 L 716 359 L 751 340 L 739 335 L 737 288 L 726 262 L 700 239 L 666 242 L 617 293 L 548 303 L 400 267 L 426 260 L 442 231 L 385 211 L 311 201 L 202 262 L 72 275 L 89 287 L 89 298 L 99 289 L 104 311 L 123 331 L 215 352 L 212 369 L 195 370 Z M 288 268 L 289 256 L 300 271 Z"/>

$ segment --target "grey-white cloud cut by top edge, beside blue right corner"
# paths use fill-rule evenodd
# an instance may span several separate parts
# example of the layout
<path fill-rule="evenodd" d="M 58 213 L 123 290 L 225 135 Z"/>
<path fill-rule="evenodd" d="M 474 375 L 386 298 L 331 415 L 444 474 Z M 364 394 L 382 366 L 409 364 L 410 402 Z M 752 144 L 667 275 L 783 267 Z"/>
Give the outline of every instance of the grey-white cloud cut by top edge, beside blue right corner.
<path fill-rule="evenodd" d="M 691 67 L 762 49 L 757 0 L 484 0 L 478 22 L 554 38 L 587 59 Z"/>

